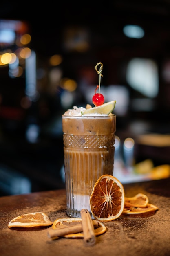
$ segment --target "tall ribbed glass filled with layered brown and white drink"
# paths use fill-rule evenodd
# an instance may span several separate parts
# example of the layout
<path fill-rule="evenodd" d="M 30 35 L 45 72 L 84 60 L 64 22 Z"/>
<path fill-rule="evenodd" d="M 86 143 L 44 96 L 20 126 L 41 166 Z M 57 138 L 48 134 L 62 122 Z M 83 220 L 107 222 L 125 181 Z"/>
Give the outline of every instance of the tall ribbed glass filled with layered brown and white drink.
<path fill-rule="evenodd" d="M 113 175 L 115 115 L 62 115 L 66 211 L 81 218 L 81 209 L 90 210 L 89 199 L 95 182 L 104 174 Z"/>

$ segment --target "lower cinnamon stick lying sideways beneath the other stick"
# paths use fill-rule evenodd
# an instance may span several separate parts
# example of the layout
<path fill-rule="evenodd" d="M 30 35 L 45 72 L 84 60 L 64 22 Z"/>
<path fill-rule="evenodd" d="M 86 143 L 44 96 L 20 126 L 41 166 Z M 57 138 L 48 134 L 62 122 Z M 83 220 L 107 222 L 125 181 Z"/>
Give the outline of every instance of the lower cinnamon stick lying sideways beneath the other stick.
<path fill-rule="evenodd" d="M 97 220 L 93 220 L 92 225 L 94 228 L 96 228 L 98 227 L 99 224 Z M 80 223 L 80 224 L 75 224 L 68 227 L 62 227 L 60 229 L 49 229 L 48 236 L 50 238 L 55 238 L 57 236 L 60 237 L 68 234 L 76 234 L 82 231 L 83 231 L 83 227 L 82 227 L 82 223 Z"/>

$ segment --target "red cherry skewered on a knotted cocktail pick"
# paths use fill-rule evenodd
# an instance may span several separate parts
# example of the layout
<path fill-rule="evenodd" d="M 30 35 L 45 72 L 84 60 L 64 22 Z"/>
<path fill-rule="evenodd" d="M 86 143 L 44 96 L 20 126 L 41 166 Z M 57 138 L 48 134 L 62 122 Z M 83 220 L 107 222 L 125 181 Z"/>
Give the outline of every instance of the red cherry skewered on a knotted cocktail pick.
<path fill-rule="evenodd" d="M 99 70 L 97 70 L 97 66 L 99 64 L 101 64 L 101 67 L 99 68 Z M 97 63 L 97 65 L 95 66 L 95 70 L 97 71 L 97 74 L 99 74 L 99 85 L 97 85 L 97 88 L 95 89 L 95 94 L 92 97 L 92 101 L 93 101 L 93 104 L 95 106 L 101 106 L 104 103 L 104 96 L 103 96 L 103 94 L 100 93 L 101 76 L 103 77 L 103 75 L 102 75 L 102 70 L 103 70 L 102 62 Z M 99 88 L 99 93 L 96 93 L 98 88 Z"/>

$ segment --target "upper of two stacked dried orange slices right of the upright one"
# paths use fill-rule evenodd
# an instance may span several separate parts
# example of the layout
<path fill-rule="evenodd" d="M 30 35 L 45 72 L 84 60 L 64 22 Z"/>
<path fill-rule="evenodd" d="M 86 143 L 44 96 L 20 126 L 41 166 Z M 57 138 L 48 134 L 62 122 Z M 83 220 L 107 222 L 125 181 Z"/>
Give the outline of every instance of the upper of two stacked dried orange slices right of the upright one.
<path fill-rule="evenodd" d="M 125 208 L 130 208 L 132 206 L 146 207 L 148 202 L 149 202 L 149 199 L 148 199 L 147 195 L 138 193 L 137 195 L 135 195 L 134 197 L 131 197 L 131 198 L 125 197 L 124 207 Z"/>

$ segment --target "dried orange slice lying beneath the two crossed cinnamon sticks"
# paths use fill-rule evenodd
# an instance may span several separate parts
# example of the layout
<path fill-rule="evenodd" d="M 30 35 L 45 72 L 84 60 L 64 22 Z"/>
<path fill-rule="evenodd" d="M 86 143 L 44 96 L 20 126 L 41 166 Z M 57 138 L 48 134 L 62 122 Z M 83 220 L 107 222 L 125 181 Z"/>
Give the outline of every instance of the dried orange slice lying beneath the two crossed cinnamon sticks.
<path fill-rule="evenodd" d="M 98 226 L 94 227 L 95 236 L 102 235 L 103 233 L 106 232 L 106 227 L 104 226 L 104 224 L 98 220 L 97 220 L 97 223 L 98 223 Z M 70 225 L 76 225 L 76 224 L 82 224 L 82 219 L 81 218 L 59 218 L 53 222 L 52 228 L 60 229 L 63 227 L 69 227 Z M 63 237 L 65 237 L 65 238 L 84 238 L 84 234 L 82 231 L 82 232 L 78 232 L 75 234 L 66 234 Z"/>

